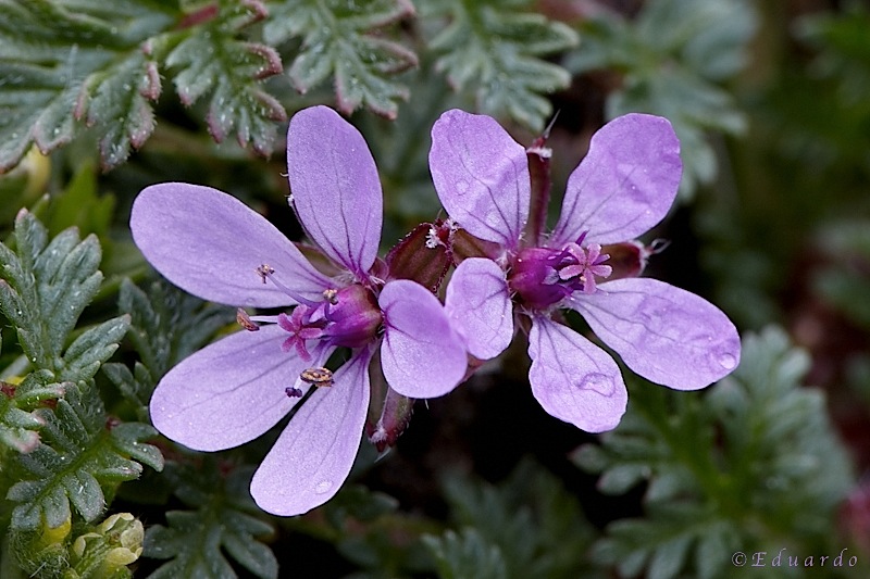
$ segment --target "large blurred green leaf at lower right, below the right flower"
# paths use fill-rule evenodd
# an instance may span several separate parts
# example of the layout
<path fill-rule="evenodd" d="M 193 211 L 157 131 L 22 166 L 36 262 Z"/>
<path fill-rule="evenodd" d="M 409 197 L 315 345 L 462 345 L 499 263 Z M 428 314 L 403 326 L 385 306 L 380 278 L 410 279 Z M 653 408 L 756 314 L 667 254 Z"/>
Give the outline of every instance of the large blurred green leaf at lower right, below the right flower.
<path fill-rule="evenodd" d="M 834 550 L 852 474 L 824 398 L 800 386 L 808 368 L 770 328 L 744 337 L 739 367 L 706 392 L 633 389 L 620 426 L 574 455 L 601 480 L 648 481 L 645 517 L 610 524 L 595 559 L 626 576 L 709 579 L 729 576 L 733 552 L 784 536 L 797 550 Z"/>

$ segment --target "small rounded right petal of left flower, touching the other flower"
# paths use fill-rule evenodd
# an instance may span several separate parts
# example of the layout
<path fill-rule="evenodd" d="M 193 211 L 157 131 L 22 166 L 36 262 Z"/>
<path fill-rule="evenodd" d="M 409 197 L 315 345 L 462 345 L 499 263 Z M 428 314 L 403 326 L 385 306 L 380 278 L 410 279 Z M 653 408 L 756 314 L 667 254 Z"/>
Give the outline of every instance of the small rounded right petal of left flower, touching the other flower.
<path fill-rule="evenodd" d="M 384 287 L 378 302 L 386 326 L 381 367 L 389 386 L 409 398 L 436 398 L 456 388 L 468 356 L 438 299 L 399 279 Z"/>

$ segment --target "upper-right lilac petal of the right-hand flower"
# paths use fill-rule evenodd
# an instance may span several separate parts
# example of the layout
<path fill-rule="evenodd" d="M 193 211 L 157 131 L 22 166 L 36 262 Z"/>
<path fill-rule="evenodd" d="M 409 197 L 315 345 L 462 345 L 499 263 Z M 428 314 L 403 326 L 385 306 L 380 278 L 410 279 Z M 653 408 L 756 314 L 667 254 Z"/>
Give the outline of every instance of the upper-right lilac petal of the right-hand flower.
<path fill-rule="evenodd" d="M 680 141 L 667 118 L 626 114 L 593 135 L 568 179 L 550 247 L 617 243 L 645 234 L 671 209 L 682 175 Z"/>

